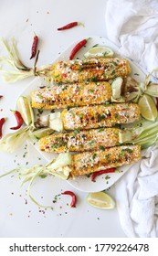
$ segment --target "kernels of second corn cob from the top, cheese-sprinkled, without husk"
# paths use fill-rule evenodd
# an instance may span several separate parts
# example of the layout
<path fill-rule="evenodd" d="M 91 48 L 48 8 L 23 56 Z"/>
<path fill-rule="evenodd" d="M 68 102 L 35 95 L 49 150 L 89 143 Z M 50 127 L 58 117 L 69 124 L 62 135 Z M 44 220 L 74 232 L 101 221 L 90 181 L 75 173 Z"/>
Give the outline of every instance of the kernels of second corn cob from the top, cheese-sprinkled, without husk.
<path fill-rule="evenodd" d="M 111 85 L 104 81 L 63 84 L 33 91 L 31 98 L 33 108 L 46 110 L 101 104 L 111 101 Z"/>

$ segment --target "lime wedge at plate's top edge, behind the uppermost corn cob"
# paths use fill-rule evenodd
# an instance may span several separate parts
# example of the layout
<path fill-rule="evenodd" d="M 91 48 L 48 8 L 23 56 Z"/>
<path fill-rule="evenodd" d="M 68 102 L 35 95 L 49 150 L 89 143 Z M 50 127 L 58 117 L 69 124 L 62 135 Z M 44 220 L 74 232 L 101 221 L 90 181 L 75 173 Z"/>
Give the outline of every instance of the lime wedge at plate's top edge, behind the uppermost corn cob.
<path fill-rule="evenodd" d="M 113 56 L 111 48 L 107 47 L 94 47 L 90 48 L 85 54 L 84 58 L 110 58 Z"/>

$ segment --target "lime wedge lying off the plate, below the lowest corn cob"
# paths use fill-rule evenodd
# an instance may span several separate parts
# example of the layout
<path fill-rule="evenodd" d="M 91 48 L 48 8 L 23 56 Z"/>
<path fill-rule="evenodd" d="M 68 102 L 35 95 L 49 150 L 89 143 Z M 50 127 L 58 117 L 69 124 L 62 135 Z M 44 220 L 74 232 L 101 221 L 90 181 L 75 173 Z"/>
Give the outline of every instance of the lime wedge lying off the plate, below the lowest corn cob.
<path fill-rule="evenodd" d="M 94 208 L 111 209 L 115 207 L 114 200 L 104 192 L 90 193 L 87 202 Z"/>

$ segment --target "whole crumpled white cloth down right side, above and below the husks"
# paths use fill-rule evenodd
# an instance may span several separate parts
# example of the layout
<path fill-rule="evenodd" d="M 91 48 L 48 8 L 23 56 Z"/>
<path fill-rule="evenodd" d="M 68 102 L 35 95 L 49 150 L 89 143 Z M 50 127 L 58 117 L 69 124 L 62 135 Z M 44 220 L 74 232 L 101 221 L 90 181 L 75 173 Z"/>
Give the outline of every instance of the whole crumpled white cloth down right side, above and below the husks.
<path fill-rule="evenodd" d="M 158 67 L 158 1 L 109 0 L 107 36 L 149 73 Z M 116 185 L 121 227 L 128 237 L 158 237 L 158 146 L 143 152 L 142 160 Z"/>

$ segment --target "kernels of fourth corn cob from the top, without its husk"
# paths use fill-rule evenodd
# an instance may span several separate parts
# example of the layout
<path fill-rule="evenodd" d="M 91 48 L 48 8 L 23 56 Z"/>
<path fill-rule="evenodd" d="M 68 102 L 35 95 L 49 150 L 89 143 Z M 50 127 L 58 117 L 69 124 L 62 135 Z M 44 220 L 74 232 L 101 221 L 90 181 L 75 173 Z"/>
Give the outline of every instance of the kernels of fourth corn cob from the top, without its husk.
<path fill-rule="evenodd" d="M 117 128 L 100 128 L 53 134 L 41 138 L 39 148 L 55 153 L 103 149 L 119 144 L 119 131 Z"/>

